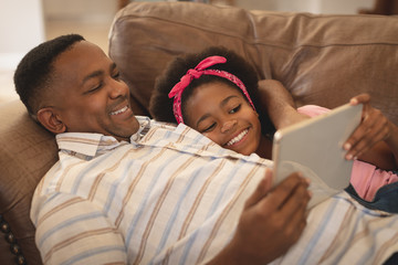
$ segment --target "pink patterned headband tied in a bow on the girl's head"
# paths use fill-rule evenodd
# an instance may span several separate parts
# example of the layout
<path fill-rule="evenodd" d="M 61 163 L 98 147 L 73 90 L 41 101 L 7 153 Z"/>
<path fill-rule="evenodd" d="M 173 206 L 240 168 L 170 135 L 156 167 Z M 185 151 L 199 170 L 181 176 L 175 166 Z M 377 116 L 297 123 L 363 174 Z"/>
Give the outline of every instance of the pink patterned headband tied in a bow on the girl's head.
<path fill-rule="evenodd" d="M 202 74 L 205 75 L 217 75 L 223 78 L 227 78 L 231 81 L 233 84 L 235 84 L 244 94 L 244 96 L 248 98 L 250 105 L 253 109 L 254 105 L 249 96 L 249 93 L 243 85 L 243 83 L 233 74 L 230 74 L 226 71 L 220 70 L 207 70 L 208 67 L 219 64 L 219 63 L 226 63 L 227 59 L 222 56 L 210 56 L 201 61 L 195 68 L 188 70 L 187 74 L 185 74 L 180 82 L 178 82 L 168 94 L 169 98 L 174 97 L 172 103 L 172 113 L 176 117 L 177 124 L 184 124 L 182 119 L 182 113 L 181 113 L 181 95 L 184 89 L 192 82 L 193 78 L 199 78 Z"/>

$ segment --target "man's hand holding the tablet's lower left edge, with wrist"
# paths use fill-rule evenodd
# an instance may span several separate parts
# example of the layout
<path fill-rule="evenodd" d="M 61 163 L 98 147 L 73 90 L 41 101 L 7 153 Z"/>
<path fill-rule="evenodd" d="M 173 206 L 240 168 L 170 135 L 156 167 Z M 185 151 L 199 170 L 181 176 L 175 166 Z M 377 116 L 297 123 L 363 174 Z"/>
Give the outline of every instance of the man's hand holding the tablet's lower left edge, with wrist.
<path fill-rule="evenodd" d="M 297 242 L 306 225 L 308 182 L 293 173 L 268 191 L 270 177 L 247 200 L 232 241 L 210 264 L 266 264 Z"/>

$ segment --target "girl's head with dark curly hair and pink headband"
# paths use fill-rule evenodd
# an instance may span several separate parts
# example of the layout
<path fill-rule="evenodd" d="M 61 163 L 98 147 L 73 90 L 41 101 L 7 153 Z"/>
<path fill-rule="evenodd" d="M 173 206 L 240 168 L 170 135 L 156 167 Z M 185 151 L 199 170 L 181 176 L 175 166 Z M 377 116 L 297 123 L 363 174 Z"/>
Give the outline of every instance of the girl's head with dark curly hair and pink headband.
<path fill-rule="evenodd" d="M 271 159 L 275 129 L 254 107 L 260 106 L 258 93 L 250 64 L 226 49 L 210 47 L 169 65 L 157 80 L 149 109 L 155 119 L 184 123 L 224 148 Z"/>

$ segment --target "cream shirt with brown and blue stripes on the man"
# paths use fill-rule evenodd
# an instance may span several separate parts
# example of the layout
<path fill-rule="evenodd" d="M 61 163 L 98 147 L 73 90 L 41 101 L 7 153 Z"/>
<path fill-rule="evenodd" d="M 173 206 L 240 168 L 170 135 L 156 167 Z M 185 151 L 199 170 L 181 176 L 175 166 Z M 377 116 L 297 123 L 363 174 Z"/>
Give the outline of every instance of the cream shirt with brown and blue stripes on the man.
<path fill-rule="evenodd" d="M 231 240 L 272 162 L 182 124 L 139 120 L 148 131 L 132 142 L 56 136 L 60 161 L 31 210 L 45 264 L 202 264 Z M 381 264 L 398 251 L 397 232 L 397 215 L 339 193 L 310 211 L 300 241 L 273 264 Z"/>

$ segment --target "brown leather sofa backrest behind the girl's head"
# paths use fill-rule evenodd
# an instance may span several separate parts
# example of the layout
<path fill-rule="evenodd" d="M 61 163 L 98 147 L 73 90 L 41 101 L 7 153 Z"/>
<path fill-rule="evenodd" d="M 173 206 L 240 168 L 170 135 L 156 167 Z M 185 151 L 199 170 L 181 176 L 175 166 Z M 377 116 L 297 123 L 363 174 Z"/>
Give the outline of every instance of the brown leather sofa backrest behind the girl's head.
<path fill-rule="evenodd" d="M 154 82 L 174 56 L 224 45 L 261 78 L 281 81 L 297 106 L 334 108 L 367 92 L 398 124 L 398 18 L 247 11 L 187 2 L 136 2 L 116 15 L 109 55 L 148 113 Z"/>

